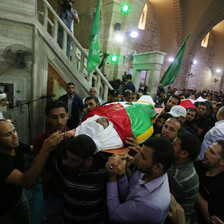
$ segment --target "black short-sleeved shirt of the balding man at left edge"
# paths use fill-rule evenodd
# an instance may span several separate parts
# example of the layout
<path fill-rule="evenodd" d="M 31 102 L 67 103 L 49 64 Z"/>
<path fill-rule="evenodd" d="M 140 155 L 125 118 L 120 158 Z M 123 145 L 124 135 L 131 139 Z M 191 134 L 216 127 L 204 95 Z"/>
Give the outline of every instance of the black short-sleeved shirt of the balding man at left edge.
<path fill-rule="evenodd" d="M 15 156 L 0 153 L 0 216 L 12 209 L 22 195 L 23 187 L 6 184 L 4 181 L 15 169 L 24 172 L 23 155 L 29 150 L 29 146 L 20 143 L 15 148 Z"/>

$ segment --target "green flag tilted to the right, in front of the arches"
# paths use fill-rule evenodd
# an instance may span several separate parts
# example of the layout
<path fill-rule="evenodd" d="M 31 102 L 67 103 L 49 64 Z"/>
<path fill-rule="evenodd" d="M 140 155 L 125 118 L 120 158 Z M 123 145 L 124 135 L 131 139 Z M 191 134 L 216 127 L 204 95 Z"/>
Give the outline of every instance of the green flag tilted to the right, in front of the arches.
<path fill-rule="evenodd" d="M 174 61 L 170 64 L 170 66 L 164 73 L 162 79 L 160 80 L 160 88 L 171 85 L 176 79 L 182 65 L 187 39 L 190 35 L 191 33 L 187 35 L 187 37 L 184 40 L 184 43 L 182 44 L 181 48 L 177 52 L 177 55 L 175 56 Z"/>

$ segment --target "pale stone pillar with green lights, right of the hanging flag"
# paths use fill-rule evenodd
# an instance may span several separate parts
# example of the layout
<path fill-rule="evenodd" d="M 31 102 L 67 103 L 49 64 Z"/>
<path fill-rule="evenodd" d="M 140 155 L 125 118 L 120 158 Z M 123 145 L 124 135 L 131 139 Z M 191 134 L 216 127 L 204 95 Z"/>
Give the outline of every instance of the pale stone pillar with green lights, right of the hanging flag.
<path fill-rule="evenodd" d="M 121 77 L 124 71 L 127 71 L 129 68 L 129 64 L 124 62 L 123 57 L 130 50 L 133 50 L 133 40 L 128 38 L 127 32 L 137 30 L 138 21 L 147 0 L 104 0 L 101 2 L 101 49 L 109 53 L 110 56 L 116 54 L 119 57 L 119 62 L 109 62 L 109 64 L 104 66 L 104 73 L 110 80 Z M 130 11 L 128 13 L 123 13 L 121 11 L 121 7 L 124 4 L 130 6 Z M 120 31 L 115 31 L 114 25 L 116 23 L 121 24 Z M 116 34 L 123 35 L 124 39 L 122 43 L 115 41 Z M 110 61 L 110 59 L 108 59 L 108 61 Z"/>

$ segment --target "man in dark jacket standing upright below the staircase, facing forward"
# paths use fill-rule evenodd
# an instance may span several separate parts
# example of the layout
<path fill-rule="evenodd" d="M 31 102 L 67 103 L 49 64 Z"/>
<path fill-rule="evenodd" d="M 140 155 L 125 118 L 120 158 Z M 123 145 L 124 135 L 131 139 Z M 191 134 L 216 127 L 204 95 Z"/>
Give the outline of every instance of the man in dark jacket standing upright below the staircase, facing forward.
<path fill-rule="evenodd" d="M 70 129 L 76 128 L 81 119 L 81 113 L 85 108 L 82 99 L 75 94 L 75 84 L 70 82 L 67 84 L 67 94 L 59 97 L 68 107 L 69 120 L 67 126 Z"/>

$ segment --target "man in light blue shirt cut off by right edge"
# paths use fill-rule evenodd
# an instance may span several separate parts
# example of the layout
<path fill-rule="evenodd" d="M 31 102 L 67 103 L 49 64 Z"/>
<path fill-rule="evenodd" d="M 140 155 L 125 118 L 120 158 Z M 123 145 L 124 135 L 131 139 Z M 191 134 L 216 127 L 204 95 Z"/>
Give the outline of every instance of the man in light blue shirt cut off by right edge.
<path fill-rule="evenodd" d="M 215 126 L 210 129 L 202 142 L 200 155 L 198 156 L 199 160 L 204 158 L 204 153 L 208 147 L 217 140 L 224 140 L 224 107 L 221 107 L 216 115 L 217 122 Z"/>

